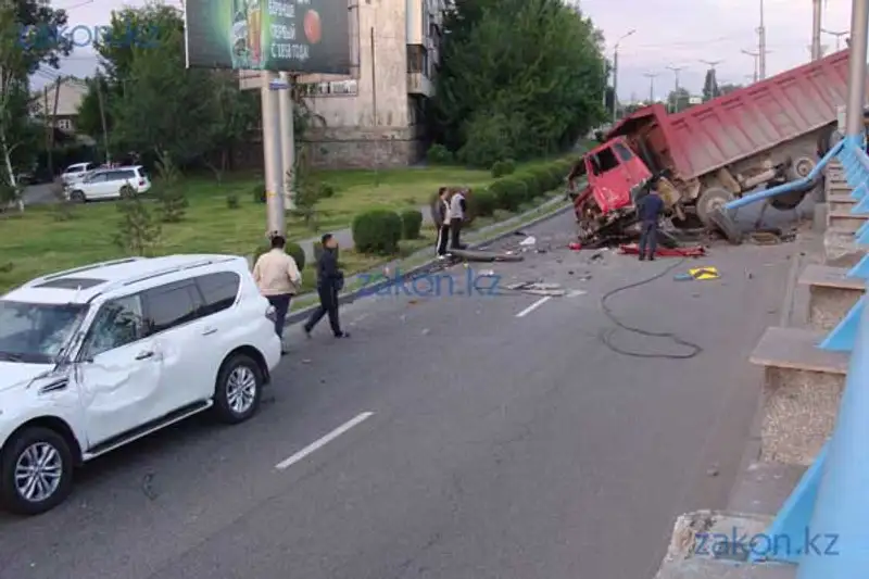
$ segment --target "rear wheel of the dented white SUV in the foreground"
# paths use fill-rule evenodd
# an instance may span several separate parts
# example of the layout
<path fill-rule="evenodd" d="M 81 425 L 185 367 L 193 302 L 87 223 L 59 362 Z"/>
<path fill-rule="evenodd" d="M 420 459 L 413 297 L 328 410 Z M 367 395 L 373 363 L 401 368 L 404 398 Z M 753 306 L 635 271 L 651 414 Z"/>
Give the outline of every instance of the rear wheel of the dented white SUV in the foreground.
<path fill-rule="evenodd" d="M 217 417 L 228 424 L 243 423 L 260 407 L 263 370 L 254 360 L 234 354 L 221 368 L 214 391 Z"/>

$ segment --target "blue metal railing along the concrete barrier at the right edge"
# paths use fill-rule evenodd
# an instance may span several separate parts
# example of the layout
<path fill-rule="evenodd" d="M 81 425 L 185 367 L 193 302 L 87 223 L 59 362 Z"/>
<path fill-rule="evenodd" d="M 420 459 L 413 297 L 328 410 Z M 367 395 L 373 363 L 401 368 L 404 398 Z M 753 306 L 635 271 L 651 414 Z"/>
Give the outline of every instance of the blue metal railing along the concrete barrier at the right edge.
<path fill-rule="evenodd" d="M 834 155 L 858 200 L 852 213 L 869 214 L 869 156 L 864 139 L 843 140 Z M 823 166 L 829 161 L 822 161 Z M 869 227 L 856 234 L 856 241 L 869 242 Z M 869 279 L 869 254 L 848 277 Z M 767 531 L 770 544 L 788 549 L 752 553 L 756 562 L 798 565 L 797 579 L 869 577 L 869 312 L 865 301 L 861 298 L 818 345 L 848 353 L 848 373 L 832 437 Z"/>

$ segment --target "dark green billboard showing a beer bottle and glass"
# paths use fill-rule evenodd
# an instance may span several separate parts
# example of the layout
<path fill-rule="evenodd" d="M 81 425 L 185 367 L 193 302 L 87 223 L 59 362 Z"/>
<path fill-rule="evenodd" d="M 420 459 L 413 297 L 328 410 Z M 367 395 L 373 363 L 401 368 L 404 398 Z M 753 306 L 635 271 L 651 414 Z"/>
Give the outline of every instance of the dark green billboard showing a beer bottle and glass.
<path fill-rule="evenodd" d="M 186 0 L 187 66 L 350 74 L 347 0 Z"/>

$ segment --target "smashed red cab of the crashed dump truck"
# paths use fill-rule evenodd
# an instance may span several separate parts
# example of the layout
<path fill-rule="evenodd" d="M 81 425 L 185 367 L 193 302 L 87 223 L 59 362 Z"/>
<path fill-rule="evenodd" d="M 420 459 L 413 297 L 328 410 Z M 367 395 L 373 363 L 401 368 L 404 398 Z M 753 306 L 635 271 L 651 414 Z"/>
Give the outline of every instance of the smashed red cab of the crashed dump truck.
<path fill-rule="evenodd" d="M 580 221 L 588 218 L 589 212 L 605 215 L 632 206 L 633 191 L 652 177 L 624 137 L 592 149 L 580 163 L 570 175 L 571 179 L 583 174 L 588 177 L 588 186 L 574 199 L 574 211 Z"/>

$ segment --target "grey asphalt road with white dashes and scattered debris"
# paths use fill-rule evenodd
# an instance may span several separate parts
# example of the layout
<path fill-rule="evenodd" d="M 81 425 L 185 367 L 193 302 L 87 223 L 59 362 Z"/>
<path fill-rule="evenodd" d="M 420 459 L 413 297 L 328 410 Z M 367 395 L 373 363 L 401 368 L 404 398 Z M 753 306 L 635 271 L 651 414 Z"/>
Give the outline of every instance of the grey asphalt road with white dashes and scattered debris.
<path fill-rule="evenodd" d="M 672 272 L 613 298 L 625 323 L 704 349 L 641 360 L 602 343 L 601 297 L 675 262 L 592 259 L 571 230 L 542 224 L 549 251 L 491 267 L 570 297 L 380 295 L 342 311 L 349 340 L 294 328 L 256 419 L 194 419 L 89 465 L 51 513 L 0 515 L 0 577 L 653 577 L 673 518 L 726 504 L 760 383 L 747 355 L 792 247 L 715 248 L 694 265 L 718 280 Z"/>

